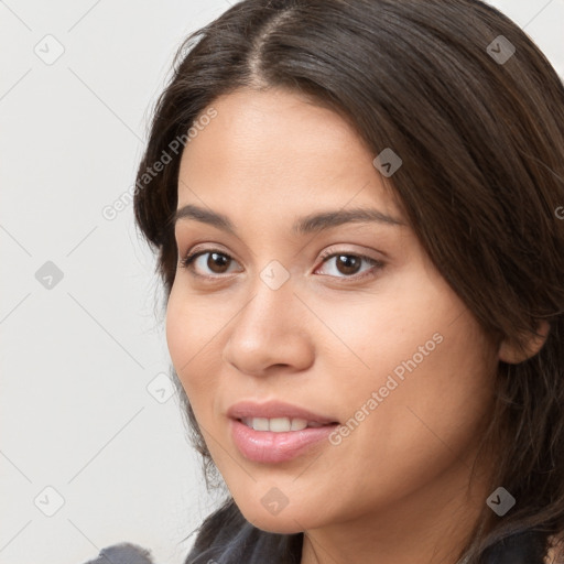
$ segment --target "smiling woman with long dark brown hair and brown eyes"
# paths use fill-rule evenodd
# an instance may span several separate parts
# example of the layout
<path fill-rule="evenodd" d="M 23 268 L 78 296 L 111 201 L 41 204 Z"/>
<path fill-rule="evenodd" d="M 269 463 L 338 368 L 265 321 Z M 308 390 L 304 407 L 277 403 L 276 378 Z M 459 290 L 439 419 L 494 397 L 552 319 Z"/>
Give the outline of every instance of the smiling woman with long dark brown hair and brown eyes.
<path fill-rule="evenodd" d="M 186 564 L 564 562 L 544 55 L 477 0 L 246 0 L 174 70 L 135 217 L 228 490 Z"/>

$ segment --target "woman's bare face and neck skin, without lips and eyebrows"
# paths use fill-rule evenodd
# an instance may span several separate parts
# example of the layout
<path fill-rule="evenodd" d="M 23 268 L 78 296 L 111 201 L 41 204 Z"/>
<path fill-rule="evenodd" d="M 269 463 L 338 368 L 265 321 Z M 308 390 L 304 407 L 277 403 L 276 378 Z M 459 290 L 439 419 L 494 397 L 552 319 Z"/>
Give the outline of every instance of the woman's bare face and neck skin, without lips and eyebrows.
<path fill-rule="evenodd" d="M 176 223 L 178 260 L 197 245 L 227 262 L 204 254 L 192 264 L 213 280 L 178 265 L 166 337 L 227 487 L 258 528 L 305 532 L 302 564 L 454 564 L 495 489 L 489 462 L 468 482 L 496 367 L 519 358 L 488 341 L 423 251 L 376 154 L 339 116 L 282 90 L 238 90 L 213 106 L 217 117 L 183 153 L 178 208 L 225 214 L 237 236 Z M 297 217 L 351 207 L 402 225 L 291 232 Z M 327 249 L 383 265 L 347 271 L 338 257 L 323 262 Z M 272 260 L 290 276 L 275 291 L 260 278 Z M 237 449 L 226 414 L 235 402 L 280 399 L 346 422 L 437 333 L 442 343 L 340 444 L 283 464 Z M 272 487 L 289 500 L 275 516 L 261 503 Z"/>

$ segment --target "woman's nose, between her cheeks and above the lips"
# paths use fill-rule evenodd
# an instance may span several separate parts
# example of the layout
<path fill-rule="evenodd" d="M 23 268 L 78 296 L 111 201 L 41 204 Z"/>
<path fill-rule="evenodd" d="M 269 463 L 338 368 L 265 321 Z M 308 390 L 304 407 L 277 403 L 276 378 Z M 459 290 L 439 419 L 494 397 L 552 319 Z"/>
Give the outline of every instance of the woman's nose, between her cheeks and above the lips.
<path fill-rule="evenodd" d="M 308 310 L 294 295 L 291 279 L 278 290 L 259 280 L 229 324 L 224 360 L 257 377 L 306 370 L 314 361 L 311 323 Z"/>

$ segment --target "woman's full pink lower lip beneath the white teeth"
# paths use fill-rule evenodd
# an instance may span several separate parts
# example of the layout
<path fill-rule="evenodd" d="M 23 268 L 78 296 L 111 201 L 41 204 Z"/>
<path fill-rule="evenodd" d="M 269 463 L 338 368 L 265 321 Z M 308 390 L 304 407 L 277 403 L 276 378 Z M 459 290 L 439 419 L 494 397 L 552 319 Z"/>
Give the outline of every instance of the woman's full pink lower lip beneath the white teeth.
<path fill-rule="evenodd" d="M 337 427 L 306 427 L 302 431 L 274 433 L 254 431 L 238 420 L 231 420 L 231 436 L 240 453 L 256 463 L 283 463 L 305 453 L 308 448 L 327 438 Z"/>

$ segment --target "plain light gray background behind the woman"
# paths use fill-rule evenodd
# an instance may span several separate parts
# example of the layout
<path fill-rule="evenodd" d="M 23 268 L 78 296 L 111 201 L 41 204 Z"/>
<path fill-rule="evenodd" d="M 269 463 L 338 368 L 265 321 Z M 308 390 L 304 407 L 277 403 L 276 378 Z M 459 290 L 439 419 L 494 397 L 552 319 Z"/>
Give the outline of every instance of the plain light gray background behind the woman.
<path fill-rule="evenodd" d="M 564 76 L 564 0 L 492 3 Z M 180 564 L 216 507 L 176 397 L 161 403 L 154 259 L 131 204 L 102 209 L 127 198 L 176 46 L 228 7 L 0 1 L 2 564 L 82 564 L 121 541 Z"/>

